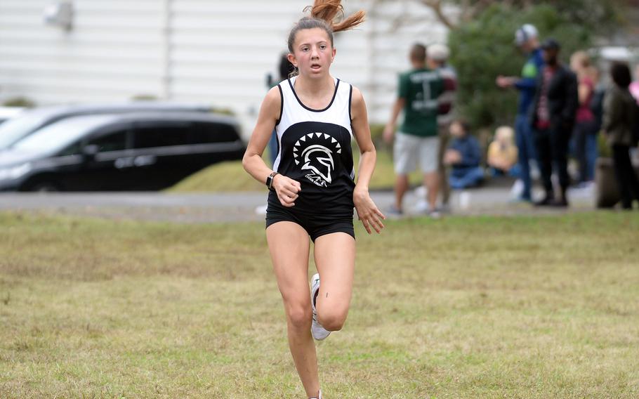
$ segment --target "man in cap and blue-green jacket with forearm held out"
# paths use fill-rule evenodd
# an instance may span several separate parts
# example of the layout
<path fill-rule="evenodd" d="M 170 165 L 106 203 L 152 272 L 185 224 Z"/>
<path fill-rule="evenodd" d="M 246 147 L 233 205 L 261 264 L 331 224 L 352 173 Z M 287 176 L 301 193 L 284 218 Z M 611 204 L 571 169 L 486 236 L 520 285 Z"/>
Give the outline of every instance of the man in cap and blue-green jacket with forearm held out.
<path fill-rule="evenodd" d="M 506 89 L 514 87 L 520 93 L 517 117 L 515 118 L 515 140 L 518 148 L 520 178 L 524 185 L 520 200 L 532 202 L 532 180 L 530 178 L 530 161 L 536 161 L 536 148 L 532 130 L 529 126 L 529 110 L 534 99 L 536 81 L 544 67 L 544 57 L 539 48 L 539 33 L 534 25 L 526 24 L 515 32 L 515 44 L 528 55 L 522 68 L 521 77 L 505 77 L 499 75 L 497 86 Z"/>

